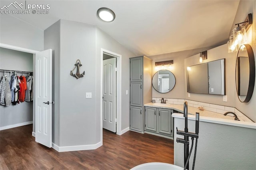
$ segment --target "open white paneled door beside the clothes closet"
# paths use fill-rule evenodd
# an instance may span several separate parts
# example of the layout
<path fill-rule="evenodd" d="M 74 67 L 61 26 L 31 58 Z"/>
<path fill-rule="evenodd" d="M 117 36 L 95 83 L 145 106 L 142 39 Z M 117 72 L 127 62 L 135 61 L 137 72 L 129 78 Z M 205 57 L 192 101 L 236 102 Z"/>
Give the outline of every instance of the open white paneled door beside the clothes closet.
<path fill-rule="evenodd" d="M 36 53 L 36 142 L 52 147 L 52 49 Z"/>

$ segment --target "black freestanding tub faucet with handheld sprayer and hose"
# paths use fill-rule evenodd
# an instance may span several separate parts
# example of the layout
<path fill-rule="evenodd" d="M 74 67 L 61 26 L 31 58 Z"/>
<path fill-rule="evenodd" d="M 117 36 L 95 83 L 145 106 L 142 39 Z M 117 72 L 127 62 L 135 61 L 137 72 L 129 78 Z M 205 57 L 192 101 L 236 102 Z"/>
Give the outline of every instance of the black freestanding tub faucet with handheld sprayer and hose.
<path fill-rule="evenodd" d="M 193 166 L 192 170 L 194 170 L 195 166 L 195 160 L 196 160 L 196 148 L 197 148 L 197 140 L 198 140 L 198 133 L 199 133 L 199 113 L 196 113 L 196 132 L 188 132 L 188 103 L 185 101 L 184 102 L 184 118 L 185 118 L 185 128 L 184 131 L 177 130 L 177 134 L 183 135 L 184 139 L 182 138 L 176 138 L 176 142 L 180 142 L 184 144 L 184 170 L 189 169 L 189 158 L 192 153 L 193 145 L 194 145 L 194 138 L 196 138 L 196 146 L 195 146 L 195 152 L 194 152 L 194 160 L 193 160 Z M 190 148 L 189 152 L 189 140 L 188 138 L 191 137 L 192 140 L 192 146 Z M 188 167 L 188 168 L 187 168 Z"/>

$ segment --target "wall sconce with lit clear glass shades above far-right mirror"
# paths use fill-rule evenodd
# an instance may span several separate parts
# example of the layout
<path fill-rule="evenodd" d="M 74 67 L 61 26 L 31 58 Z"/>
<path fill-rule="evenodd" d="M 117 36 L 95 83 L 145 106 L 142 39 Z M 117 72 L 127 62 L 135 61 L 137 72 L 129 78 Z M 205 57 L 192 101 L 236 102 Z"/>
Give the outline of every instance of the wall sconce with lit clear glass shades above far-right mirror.
<path fill-rule="evenodd" d="M 242 26 L 240 26 L 242 24 Z M 237 27 L 233 30 L 233 34 L 228 40 L 228 53 L 236 52 L 241 45 L 246 43 L 246 31 L 252 25 L 252 14 L 248 14 L 244 22 L 235 24 Z M 244 45 L 242 46 L 242 48 Z M 245 50 L 241 49 L 240 50 Z"/>

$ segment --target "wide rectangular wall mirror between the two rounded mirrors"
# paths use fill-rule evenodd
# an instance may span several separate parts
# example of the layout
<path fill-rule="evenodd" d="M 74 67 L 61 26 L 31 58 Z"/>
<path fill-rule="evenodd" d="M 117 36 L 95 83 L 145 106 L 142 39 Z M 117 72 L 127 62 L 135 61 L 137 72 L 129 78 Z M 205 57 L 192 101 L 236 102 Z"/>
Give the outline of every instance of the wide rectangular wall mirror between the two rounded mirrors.
<path fill-rule="evenodd" d="M 225 59 L 187 67 L 187 92 L 225 95 Z"/>

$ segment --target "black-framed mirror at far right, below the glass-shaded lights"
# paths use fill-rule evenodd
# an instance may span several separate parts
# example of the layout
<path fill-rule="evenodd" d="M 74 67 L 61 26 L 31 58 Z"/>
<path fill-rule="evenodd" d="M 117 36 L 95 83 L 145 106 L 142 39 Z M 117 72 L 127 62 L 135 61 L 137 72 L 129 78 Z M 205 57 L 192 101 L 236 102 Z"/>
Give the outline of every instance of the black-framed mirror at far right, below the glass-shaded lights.
<path fill-rule="evenodd" d="M 255 82 L 255 61 L 252 47 L 241 45 L 236 57 L 236 92 L 241 102 L 250 101 Z"/>

